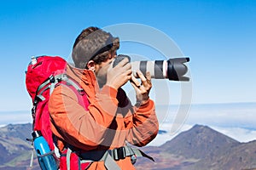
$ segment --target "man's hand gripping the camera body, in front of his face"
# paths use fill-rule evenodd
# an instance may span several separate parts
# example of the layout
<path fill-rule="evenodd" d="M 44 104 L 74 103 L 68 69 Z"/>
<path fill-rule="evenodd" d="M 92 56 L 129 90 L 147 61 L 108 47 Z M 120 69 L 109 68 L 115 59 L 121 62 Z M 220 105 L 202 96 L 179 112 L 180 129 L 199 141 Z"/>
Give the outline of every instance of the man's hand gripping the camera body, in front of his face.
<path fill-rule="evenodd" d="M 131 64 L 126 58 L 120 61 L 115 67 L 112 64 L 108 68 L 106 85 L 118 90 L 118 88 L 122 87 L 131 79 L 131 73 Z"/>

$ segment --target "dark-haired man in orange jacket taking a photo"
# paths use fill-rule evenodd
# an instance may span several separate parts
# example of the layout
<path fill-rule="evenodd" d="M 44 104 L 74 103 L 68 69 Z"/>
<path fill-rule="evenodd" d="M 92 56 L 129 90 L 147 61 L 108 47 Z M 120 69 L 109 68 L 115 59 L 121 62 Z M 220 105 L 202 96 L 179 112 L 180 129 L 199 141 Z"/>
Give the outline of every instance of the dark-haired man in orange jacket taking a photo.
<path fill-rule="evenodd" d="M 73 45 L 75 67 L 67 65 L 67 77 L 79 83 L 86 99 L 81 102 L 63 85 L 49 99 L 51 128 L 61 155 L 79 156 L 82 168 L 83 162 L 90 162 L 88 169 L 134 169 L 131 161 L 142 152 L 127 143 L 143 146 L 158 133 L 154 101 L 148 96 L 151 77 L 137 71 L 138 81 L 128 59 L 113 67 L 117 49 L 119 38 L 110 33 L 97 27 L 82 31 Z M 121 88 L 129 81 L 136 91 L 135 106 Z M 61 169 L 72 167 L 72 158 L 68 159 L 61 161 Z"/>

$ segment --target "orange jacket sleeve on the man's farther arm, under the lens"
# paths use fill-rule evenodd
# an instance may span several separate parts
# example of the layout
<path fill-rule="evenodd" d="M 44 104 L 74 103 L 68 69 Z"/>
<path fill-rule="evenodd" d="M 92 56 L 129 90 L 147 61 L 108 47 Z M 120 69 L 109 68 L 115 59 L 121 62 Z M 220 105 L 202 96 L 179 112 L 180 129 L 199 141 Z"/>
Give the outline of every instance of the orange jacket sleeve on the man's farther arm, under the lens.
<path fill-rule="evenodd" d="M 119 99 L 119 109 L 122 110 L 120 112 L 125 116 L 126 140 L 137 146 L 151 142 L 159 131 L 154 101 L 148 99 L 143 105 L 132 106 L 124 91 L 118 94 L 117 99 Z"/>

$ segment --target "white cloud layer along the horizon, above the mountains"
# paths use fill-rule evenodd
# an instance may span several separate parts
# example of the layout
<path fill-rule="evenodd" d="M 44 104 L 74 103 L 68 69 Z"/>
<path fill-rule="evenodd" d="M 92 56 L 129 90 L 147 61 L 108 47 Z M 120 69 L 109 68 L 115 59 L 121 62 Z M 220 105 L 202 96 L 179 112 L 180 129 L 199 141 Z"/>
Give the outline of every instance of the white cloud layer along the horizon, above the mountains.
<path fill-rule="evenodd" d="M 195 124 L 207 125 L 224 133 L 239 142 L 248 142 L 256 139 L 256 103 L 243 104 L 214 104 L 191 105 L 189 114 L 183 122 L 179 122 L 179 129 L 172 133 L 172 127 L 177 122 L 178 105 L 156 105 L 156 112 L 160 120 L 160 133 L 150 145 L 164 144 L 178 133 L 188 130 Z M 0 112 L 0 127 L 10 123 L 32 122 L 30 111 Z"/>

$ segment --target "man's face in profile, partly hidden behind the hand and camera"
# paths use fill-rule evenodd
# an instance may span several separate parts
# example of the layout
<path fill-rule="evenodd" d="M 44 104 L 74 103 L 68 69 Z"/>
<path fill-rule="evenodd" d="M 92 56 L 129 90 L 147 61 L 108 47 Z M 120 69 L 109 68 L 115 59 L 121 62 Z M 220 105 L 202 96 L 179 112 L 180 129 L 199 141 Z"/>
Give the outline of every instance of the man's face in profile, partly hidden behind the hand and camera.
<path fill-rule="evenodd" d="M 108 69 L 110 66 L 112 66 L 113 59 L 115 57 L 116 55 L 113 55 L 113 57 L 109 57 L 106 61 L 103 61 L 101 64 L 96 64 L 95 74 L 100 86 L 106 84 Z"/>

